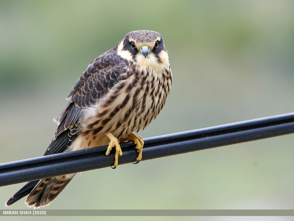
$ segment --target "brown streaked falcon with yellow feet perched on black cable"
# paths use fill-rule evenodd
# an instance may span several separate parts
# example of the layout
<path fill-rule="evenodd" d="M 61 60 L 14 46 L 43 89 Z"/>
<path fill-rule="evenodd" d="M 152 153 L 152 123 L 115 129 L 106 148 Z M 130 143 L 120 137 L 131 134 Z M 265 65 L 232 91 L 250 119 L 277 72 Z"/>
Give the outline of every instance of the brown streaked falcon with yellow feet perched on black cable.
<path fill-rule="evenodd" d="M 128 33 L 84 70 L 67 97 L 69 103 L 55 119 L 58 128 L 44 156 L 108 144 L 106 155 L 116 148 L 115 168 L 122 155 L 119 142 L 134 141 L 140 161 L 144 142 L 133 132 L 156 118 L 166 103 L 171 82 L 162 36 L 147 30 Z M 6 205 L 29 194 L 29 207 L 44 207 L 74 175 L 27 182 Z"/>

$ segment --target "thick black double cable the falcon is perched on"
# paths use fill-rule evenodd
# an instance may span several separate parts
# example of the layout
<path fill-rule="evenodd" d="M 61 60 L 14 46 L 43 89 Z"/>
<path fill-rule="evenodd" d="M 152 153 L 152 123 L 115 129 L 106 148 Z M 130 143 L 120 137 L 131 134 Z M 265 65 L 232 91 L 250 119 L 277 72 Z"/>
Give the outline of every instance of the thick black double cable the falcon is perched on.
<path fill-rule="evenodd" d="M 146 138 L 142 161 L 289 133 L 294 133 L 294 113 Z M 0 164 L 0 186 L 111 166 L 115 150 L 105 156 L 106 149 L 93 147 Z M 133 142 L 122 143 L 121 149 L 119 164 L 136 161 Z"/>

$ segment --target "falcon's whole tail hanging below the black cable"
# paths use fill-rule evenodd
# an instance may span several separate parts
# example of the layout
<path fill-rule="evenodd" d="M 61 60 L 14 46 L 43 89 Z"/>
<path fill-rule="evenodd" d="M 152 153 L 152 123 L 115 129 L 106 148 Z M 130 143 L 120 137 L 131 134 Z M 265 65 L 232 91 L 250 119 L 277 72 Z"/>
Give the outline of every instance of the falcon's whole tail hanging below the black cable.
<path fill-rule="evenodd" d="M 50 204 L 61 193 L 74 175 L 76 174 L 67 174 L 28 182 L 6 202 L 6 206 L 29 194 L 26 199 L 26 204 L 29 207 L 34 206 L 35 209 L 44 207 Z"/>

